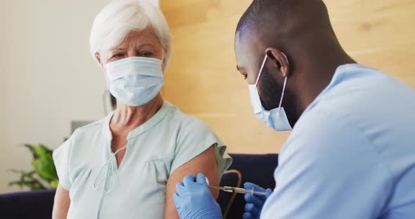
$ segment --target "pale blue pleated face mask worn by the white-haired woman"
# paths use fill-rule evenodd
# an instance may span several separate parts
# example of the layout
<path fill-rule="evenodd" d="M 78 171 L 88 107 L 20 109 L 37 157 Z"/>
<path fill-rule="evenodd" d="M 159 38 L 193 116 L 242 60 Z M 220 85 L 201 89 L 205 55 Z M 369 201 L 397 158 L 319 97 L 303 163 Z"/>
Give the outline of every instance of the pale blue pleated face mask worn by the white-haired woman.
<path fill-rule="evenodd" d="M 164 85 L 161 60 L 129 57 L 106 65 L 107 90 L 131 107 L 153 100 Z"/>

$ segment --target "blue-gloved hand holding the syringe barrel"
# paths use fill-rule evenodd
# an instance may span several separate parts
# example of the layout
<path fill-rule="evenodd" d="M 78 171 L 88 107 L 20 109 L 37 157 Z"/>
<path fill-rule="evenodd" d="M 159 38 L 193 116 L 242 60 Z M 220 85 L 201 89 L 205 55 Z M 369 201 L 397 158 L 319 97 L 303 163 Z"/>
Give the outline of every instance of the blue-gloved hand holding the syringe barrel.
<path fill-rule="evenodd" d="M 245 194 L 245 213 L 243 213 L 243 219 L 259 219 L 262 206 L 264 206 L 265 200 L 269 197 L 269 195 L 272 194 L 272 190 L 267 189 L 264 190 L 262 187 L 259 187 L 258 185 L 255 185 L 253 183 L 244 183 L 243 187 L 245 187 L 246 190 L 252 190 L 255 191 L 261 191 L 266 192 L 267 195 L 253 195 L 253 194 Z"/>

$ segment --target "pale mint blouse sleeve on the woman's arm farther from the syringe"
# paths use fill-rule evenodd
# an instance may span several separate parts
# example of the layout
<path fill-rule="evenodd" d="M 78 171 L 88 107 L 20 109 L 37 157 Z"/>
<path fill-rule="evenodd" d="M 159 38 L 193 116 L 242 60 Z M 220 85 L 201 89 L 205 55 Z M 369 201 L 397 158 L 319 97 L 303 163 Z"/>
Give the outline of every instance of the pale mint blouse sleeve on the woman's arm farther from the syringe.
<path fill-rule="evenodd" d="M 53 162 L 55 163 L 56 172 L 58 173 L 59 184 L 68 191 L 72 185 L 68 171 L 71 145 L 72 137 L 53 152 Z"/>

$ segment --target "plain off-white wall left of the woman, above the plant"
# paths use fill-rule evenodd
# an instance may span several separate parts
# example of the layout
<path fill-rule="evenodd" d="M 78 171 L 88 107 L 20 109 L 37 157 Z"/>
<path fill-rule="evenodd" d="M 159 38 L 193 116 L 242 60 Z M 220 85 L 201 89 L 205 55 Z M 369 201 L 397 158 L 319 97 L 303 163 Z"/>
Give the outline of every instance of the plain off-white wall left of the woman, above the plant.
<path fill-rule="evenodd" d="M 103 74 L 89 55 L 89 30 L 105 0 L 1 1 L 0 192 L 9 168 L 31 168 L 22 145 L 56 148 L 70 121 L 103 117 Z"/>

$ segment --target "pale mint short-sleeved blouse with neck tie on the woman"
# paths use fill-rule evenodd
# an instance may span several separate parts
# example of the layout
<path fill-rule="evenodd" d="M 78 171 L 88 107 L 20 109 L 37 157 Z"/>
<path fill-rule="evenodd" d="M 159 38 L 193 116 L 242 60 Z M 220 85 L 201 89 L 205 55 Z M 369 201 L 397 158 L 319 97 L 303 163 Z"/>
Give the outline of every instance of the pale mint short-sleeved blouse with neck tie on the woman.
<path fill-rule="evenodd" d="M 231 164 L 226 146 L 207 124 L 165 101 L 129 133 L 117 168 L 112 115 L 77 129 L 53 152 L 59 183 L 70 194 L 68 218 L 163 218 L 166 183 L 174 170 L 212 145 L 218 174 Z"/>

